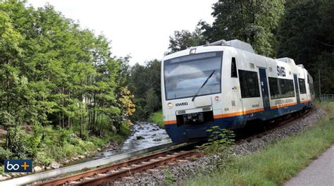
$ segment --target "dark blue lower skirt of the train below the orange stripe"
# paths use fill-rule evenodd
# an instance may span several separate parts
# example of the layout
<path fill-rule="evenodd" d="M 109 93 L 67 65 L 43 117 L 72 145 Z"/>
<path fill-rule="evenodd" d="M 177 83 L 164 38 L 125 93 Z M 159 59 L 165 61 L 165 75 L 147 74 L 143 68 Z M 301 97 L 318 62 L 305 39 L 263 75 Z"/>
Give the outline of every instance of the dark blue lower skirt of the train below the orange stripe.
<path fill-rule="evenodd" d="M 256 113 L 248 113 L 242 116 L 233 116 L 227 118 L 218 118 L 213 122 L 203 125 L 181 125 L 178 127 L 176 124 L 165 125 L 166 132 L 171 137 L 173 142 L 187 142 L 191 140 L 198 140 L 199 138 L 209 137 L 209 132 L 206 132 L 213 126 L 220 126 L 221 128 L 241 128 L 247 120 L 269 120 L 284 116 L 288 113 L 300 111 L 306 107 L 311 106 L 311 101 L 302 104 L 296 104 L 293 106 L 287 106 L 279 109 L 271 109 L 269 111 L 260 111 Z"/>

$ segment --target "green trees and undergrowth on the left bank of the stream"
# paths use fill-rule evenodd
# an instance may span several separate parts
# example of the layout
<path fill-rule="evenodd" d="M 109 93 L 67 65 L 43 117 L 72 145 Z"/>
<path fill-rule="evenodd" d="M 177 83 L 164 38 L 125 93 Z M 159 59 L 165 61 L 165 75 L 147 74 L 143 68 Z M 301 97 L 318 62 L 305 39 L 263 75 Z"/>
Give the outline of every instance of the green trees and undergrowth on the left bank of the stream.
<path fill-rule="evenodd" d="M 127 67 L 52 6 L 0 1 L 0 159 L 46 165 L 120 142 L 135 111 Z"/>

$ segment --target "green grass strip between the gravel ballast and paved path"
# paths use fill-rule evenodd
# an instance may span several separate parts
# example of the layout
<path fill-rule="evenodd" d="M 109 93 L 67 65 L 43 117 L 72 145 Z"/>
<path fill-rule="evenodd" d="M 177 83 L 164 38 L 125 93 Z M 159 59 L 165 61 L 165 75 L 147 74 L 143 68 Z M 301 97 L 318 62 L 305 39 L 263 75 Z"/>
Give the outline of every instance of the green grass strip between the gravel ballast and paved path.
<path fill-rule="evenodd" d="M 334 104 L 322 101 L 317 106 L 328 112 L 318 125 L 254 154 L 233 158 L 223 169 L 183 185 L 283 185 L 334 143 Z"/>

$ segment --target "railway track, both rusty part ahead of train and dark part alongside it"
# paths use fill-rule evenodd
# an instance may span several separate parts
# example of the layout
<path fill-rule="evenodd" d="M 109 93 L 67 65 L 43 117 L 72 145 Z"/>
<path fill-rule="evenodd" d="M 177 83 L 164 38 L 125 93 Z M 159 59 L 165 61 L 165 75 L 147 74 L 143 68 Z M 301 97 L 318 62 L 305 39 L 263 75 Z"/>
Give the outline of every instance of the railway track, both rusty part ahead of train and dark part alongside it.
<path fill-rule="evenodd" d="M 292 114 L 290 116 L 286 116 L 285 118 L 272 121 L 271 123 L 260 125 L 261 127 L 254 128 L 254 126 L 251 126 L 252 130 L 244 128 L 244 132 L 240 133 L 241 137 L 236 139 L 236 143 L 252 137 L 261 137 L 262 135 L 271 132 L 274 128 L 278 128 L 282 125 L 290 123 L 292 120 L 304 116 L 307 112 L 308 111 Z M 168 149 L 154 154 L 149 154 L 147 156 L 116 163 L 111 166 L 49 180 L 37 185 L 113 185 L 117 180 L 121 180 L 122 178 L 131 178 L 136 175 L 136 173 L 143 171 L 155 171 L 155 169 L 152 168 L 157 168 L 166 163 L 202 156 L 202 154 L 199 154 L 198 149 L 195 149 L 194 146 L 194 144 L 187 144 L 183 147 L 175 147 L 174 149 Z"/>

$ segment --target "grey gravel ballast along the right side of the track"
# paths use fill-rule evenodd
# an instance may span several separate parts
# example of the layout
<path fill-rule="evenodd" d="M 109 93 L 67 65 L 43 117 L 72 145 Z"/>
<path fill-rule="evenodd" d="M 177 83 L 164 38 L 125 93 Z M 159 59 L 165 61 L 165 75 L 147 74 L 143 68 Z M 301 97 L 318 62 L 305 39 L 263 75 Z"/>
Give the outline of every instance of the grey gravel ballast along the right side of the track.
<path fill-rule="evenodd" d="M 315 125 L 325 114 L 325 110 L 314 107 L 301 118 L 268 132 L 264 132 L 261 137 L 250 137 L 247 140 L 237 142 L 230 151 L 233 151 L 234 156 L 252 154 L 254 151 L 264 149 L 266 144 L 273 140 L 280 140 L 295 135 L 296 133 L 302 132 L 305 128 Z M 202 156 L 195 161 L 173 163 L 159 167 L 159 171 L 135 174 L 130 179 L 127 178 L 116 182 L 115 185 L 170 185 L 171 182 L 186 180 L 199 173 L 211 173 L 216 168 L 212 162 L 218 160 L 218 156 Z"/>

